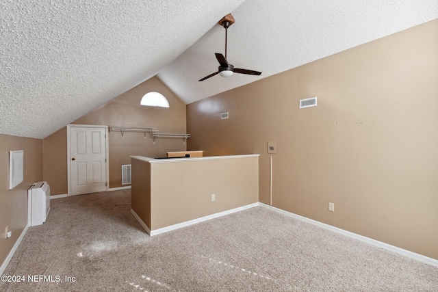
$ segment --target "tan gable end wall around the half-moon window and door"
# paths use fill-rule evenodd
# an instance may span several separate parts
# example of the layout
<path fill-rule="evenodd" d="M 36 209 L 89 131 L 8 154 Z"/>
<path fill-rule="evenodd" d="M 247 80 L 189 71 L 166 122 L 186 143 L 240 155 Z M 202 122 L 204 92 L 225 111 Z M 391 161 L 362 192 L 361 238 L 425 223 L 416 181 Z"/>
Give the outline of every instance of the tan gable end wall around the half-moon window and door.
<path fill-rule="evenodd" d="M 170 108 L 144 107 L 140 100 L 147 92 L 164 94 Z M 125 127 L 157 127 L 161 133 L 185 133 L 185 104 L 157 77 L 94 109 L 72 124 L 96 124 Z M 44 180 L 54 187 L 53 195 L 67 194 L 66 129 L 44 139 Z M 47 152 L 45 152 L 47 149 Z M 122 187 L 121 165 L 130 164 L 130 155 L 166 157 L 167 151 L 185 150 L 182 139 L 153 139 L 144 133 L 109 133 L 110 187 Z M 46 167 L 47 165 L 47 167 Z"/>

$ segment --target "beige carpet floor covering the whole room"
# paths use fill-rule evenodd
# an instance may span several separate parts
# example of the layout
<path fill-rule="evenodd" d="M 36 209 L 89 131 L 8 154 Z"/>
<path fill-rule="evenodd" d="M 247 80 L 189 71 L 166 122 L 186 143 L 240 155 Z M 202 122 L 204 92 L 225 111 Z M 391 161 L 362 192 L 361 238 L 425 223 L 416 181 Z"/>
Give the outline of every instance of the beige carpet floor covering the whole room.
<path fill-rule="evenodd" d="M 130 207 L 129 190 L 52 200 L 0 291 L 438 291 L 437 267 L 263 207 L 152 238 Z"/>

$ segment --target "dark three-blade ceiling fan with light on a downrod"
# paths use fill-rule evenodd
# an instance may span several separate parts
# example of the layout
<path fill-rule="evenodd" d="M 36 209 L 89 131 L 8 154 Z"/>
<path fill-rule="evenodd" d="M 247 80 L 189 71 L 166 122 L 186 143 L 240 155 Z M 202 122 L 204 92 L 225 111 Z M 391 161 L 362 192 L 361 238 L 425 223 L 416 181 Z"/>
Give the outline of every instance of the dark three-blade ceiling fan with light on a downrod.
<path fill-rule="evenodd" d="M 198 81 L 204 81 L 205 79 L 209 79 L 210 77 L 213 77 L 214 75 L 218 75 L 218 74 L 222 77 L 230 77 L 231 75 L 233 75 L 233 73 L 261 75 L 261 72 L 259 71 L 234 68 L 234 66 L 229 64 L 229 62 L 227 61 L 227 31 L 230 25 L 232 25 L 233 23 L 234 23 L 234 18 L 231 14 L 224 16 L 224 18 L 222 18 L 219 21 L 218 24 L 222 25 L 222 27 L 224 27 L 225 29 L 225 57 L 221 53 L 215 53 L 216 59 L 218 59 L 218 62 L 220 64 L 218 72 L 214 72 L 213 74 L 210 74 Z"/>

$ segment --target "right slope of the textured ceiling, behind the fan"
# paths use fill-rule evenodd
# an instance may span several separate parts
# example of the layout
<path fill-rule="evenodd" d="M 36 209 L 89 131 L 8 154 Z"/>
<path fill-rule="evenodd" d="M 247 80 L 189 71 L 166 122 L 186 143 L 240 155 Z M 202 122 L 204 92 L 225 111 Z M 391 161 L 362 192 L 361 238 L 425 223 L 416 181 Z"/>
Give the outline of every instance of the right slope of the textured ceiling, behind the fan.
<path fill-rule="evenodd" d="M 158 74 L 185 103 L 295 68 L 438 18 L 437 0 L 248 0 L 231 12 L 227 59 L 260 76 L 219 75 L 225 31 L 213 27 Z"/>

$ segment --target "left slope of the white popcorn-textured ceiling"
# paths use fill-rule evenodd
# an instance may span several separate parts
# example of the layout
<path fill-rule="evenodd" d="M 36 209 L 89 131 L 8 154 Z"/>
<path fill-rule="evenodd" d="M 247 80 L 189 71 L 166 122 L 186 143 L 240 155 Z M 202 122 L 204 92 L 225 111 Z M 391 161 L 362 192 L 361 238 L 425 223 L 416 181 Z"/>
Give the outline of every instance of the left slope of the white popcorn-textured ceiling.
<path fill-rule="evenodd" d="M 243 0 L 0 0 L 0 133 L 47 137 L 153 77 Z"/>

